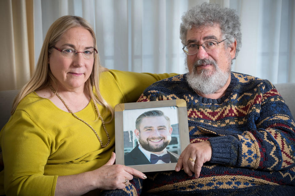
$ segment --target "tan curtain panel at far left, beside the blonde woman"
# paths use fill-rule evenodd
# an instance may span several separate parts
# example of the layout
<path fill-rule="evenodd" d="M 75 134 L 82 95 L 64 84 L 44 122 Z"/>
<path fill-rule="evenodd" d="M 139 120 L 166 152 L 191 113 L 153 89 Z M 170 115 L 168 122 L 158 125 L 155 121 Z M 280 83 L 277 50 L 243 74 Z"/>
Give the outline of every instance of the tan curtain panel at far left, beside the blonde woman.
<path fill-rule="evenodd" d="M 0 1 L 0 90 L 17 89 L 33 73 L 33 0 Z"/>

